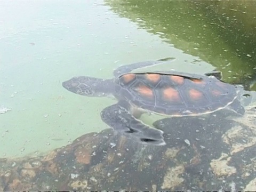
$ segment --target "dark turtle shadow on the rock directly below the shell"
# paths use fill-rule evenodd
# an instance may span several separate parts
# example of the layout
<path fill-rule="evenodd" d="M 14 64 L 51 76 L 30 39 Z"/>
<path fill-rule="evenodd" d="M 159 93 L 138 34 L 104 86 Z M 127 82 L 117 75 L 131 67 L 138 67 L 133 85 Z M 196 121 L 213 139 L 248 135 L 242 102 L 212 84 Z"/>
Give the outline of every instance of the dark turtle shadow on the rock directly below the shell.
<path fill-rule="evenodd" d="M 218 156 L 218 151 L 221 151 L 220 147 L 223 148 L 224 144 L 221 137 L 234 126 L 234 121 L 223 117 L 223 114 L 210 114 L 163 118 L 154 122 L 153 126 L 163 130 L 164 140 L 169 147 L 195 145 L 202 153 Z"/>

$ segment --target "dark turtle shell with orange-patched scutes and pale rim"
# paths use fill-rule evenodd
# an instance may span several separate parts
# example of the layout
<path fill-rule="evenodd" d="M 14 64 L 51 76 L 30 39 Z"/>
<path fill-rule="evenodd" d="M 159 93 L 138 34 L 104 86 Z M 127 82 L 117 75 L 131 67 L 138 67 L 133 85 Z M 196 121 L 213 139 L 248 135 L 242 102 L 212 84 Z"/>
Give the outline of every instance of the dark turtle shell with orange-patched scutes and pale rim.
<path fill-rule="evenodd" d="M 234 85 L 186 73 L 126 73 L 116 78 L 115 91 L 132 106 L 167 116 L 213 113 L 237 97 Z"/>

